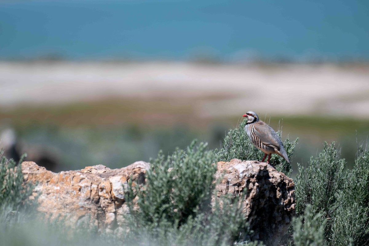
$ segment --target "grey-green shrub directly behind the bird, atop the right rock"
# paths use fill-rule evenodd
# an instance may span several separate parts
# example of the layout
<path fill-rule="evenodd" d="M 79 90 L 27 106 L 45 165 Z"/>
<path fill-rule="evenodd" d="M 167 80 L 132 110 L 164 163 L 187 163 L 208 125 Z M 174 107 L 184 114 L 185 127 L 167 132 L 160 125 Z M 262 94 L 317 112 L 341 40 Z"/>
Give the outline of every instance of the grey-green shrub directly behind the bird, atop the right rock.
<path fill-rule="evenodd" d="M 264 153 L 252 144 L 245 131 L 246 121 L 246 119 L 243 119 L 237 128 L 228 131 L 227 135 L 225 135 L 223 148 L 219 152 L 221 160 L 230 161 L 231 159 L 237 158 L 240 160 L 261 161 L 263 159 Z M 277 134 L 279 137 L 281 137 L 282 131 L 278 131 Z M 297 141 L 299 141 L 298 138 L 291 142 L 287 137 L 283 143 L 290 160 Z M 283 172 L 287 176 L 289 176 L 292 172 L 291 164 L 286 162 L 286 160 L 279 155 L 272 155 L 270 163 L 275 163 L 276 169 Z"/>

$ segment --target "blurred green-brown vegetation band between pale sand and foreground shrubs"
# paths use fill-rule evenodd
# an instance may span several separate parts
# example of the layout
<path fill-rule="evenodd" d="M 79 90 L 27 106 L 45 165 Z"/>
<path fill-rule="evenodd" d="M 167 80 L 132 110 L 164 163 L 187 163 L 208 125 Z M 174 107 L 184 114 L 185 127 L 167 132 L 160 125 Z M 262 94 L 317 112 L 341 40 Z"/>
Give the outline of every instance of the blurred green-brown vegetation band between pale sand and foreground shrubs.
<path fill-rule="evenodd" d="M 200 98 L 192 99 L 108 98 L 65 105 L 18 105 L 0 108 L 0 130 L 12 127 L 18 141 L 51 150 L 60 160 L 55 171 L 96 164 L 119 168 L 137 160 L 148 161 L 159 150 L 168 155 L 193 139 L 220 149 L 228 129 L 236 127 L 242 117 L 203 117 L 196 113 Z M 201 98 L 205 99 L 219 97 Z M 323 149 L 324 141 L 336 141 L 342 157 L 350 163 L 358 142 L 368 142 L 368 119 L 346 121 L 328 115 L 260 118 L 282 130 L 282 141 L 287 136 L 300 138 L 292 158 L 295 171 L 297 163 L 307 163 Z"/>

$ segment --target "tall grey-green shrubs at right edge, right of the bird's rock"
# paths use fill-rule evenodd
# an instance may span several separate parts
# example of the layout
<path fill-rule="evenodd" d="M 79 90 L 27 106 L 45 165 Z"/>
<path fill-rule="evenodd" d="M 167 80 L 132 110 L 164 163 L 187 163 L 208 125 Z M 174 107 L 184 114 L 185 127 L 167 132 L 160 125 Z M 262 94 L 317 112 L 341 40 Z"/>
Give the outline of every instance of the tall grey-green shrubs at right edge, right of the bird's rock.
<path fill-rule="evenodd" d="M 308 167 L 299 165 L 296 213 L 303 219 L 310 215 L 308 220 L 325 225 L 328 245 L 368 245 L 369 152 L 360 146 L 352 170 L 345 169 L 339 154 L 334 143 L 324 143 L 323 152 L 311 158 Z M 298 225 L 294 233 L 296 228 Z M 295 236 L 294 241 L 299 245 Z"/>

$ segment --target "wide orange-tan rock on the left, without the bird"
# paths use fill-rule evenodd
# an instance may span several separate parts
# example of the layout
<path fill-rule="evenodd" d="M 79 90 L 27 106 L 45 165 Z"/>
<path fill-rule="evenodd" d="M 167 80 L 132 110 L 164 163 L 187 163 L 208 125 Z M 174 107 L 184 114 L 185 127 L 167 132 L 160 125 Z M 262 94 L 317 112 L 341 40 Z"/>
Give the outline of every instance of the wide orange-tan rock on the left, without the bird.
<path fill-rule="evenodd" d="M 22 172 L 26 182 L 37 183 L 38 210 L 54 219 L 66 216 L 71 224 L 85 221 L 108 230 L 123 222 L 124 186 L 132 177 L 135 183 L 145 181 L 147 162 L 135 162 L 121 169 L 103 165 L 86 167 L 77 171 L 53 173 L 34 162 L 23 162 Z"/>

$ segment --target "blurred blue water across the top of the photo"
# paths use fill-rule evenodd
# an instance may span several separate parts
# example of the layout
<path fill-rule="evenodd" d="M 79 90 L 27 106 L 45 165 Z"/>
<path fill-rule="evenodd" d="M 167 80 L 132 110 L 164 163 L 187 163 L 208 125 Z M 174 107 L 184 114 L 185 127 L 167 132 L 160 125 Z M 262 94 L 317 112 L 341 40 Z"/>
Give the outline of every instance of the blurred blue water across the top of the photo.
<path fill-rule="evenodd" d="M 1 1 L 0 59 L 369 58 L 369 1 Z"/>

